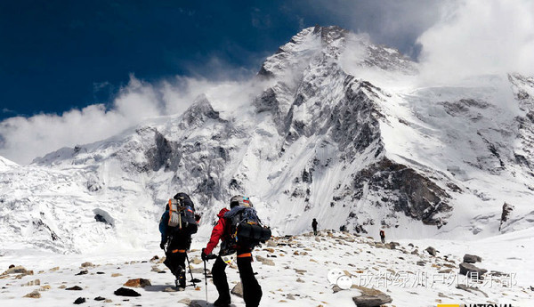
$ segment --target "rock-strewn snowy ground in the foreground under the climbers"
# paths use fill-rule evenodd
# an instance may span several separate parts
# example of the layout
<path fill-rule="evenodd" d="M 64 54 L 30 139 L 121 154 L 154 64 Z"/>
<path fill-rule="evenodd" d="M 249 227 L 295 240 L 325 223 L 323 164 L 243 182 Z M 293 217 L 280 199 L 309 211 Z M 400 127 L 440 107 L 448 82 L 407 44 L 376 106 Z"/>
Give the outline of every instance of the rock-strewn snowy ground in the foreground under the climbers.
<path fill-rule="evenodd" d="M 531 280 L 534 263 L 530 254 L 534 244 L 533 229 L 516 231 L 474 243 L 459 240 L 407 240 L 395 249 L 384 248 L 372 238 L 357 237 L 347 232 L 321 231 L 319 237 L 310 233 L 274 240 L 255 251 L 253 268 L 263 288 L 262 306 L 353 306 L 352 297 L 361 289 L 340 290 L 328 281 L 330 271 L 341 271 L 350 276 L 352 285 L 374 288 L 391 296 L 392 303 L 384 306 L 433 306 L 437 303 L 502 303 L 530 306 L 534 300 Z M 206 238 L 195 238 L 193 248 L 203 246 Z M 438 249 L 436 256 L 425 252 L 427 246 Z M 206 306 L 203 264 L 198 262 L 198 249 L 190 253 L 194 277 L 202 279 L 194 289 L 189 284 L 184 292 L 164 292 L 174 287 L 174 277 L 161 259 L 158 243 L 149 250 L 133 253 L 58 255 L 46 252 L 7 250 L 0 256 L 0 268 L 9 264 L 22 265 L 33 270 L 33 275 L 17 278 L 20 274 L 0 275 L 0 304 L 2 306 L 63 306 L 85 297 L 85 306 L 117 304 L 126 306 Z M 416 252 L 418 250 L 418 252 Z M 505 275 L 473 283 L 458 275 L 458 263 L 465 253 L 482 257 L 477 266 Z M 257 257 L 263 257 L 257 258 Z M 41 259 L 36 262 L 36 259 Z M 271 263 L 269 263 L 271 261 Z M 90 262 L 94 266 L 81 267 Z M 418 262 L 423 262 L 419 263 Z M 213 262 L 208 264 L 211 269 Z M 154 269 L 154 267 L 156 269 Z M 76 275 L 80 271 L 84 275 Z M 4 269 L 2 270 L 4 271 Z M 160 274 L 157 271 L 164 271 Z M 239 281 L 235 263 L 227 268 L 231 287 Z M 118 274 L 112 275 L 112 274 Z M 142 296 L 124 297 L 114 291 L 128 279 L 150 279 L 150 287 L 131 287 Z M 38 279 L 40 285 L 24 286 Z M 188 274 L 188 279 L 190 275 Z M 336 281 L 335 281 L 336 282 Z M 467 292 L 457 285 L 477 288 Z M 65 287 L 81 287 L 78 291 Z M 350 286 L 350 285 L 349 285 Z M 49 287 L 46 289 L 45 287 Z M 345 288 L 345 287 L 344 287 Z M 23 297 L 37 290 L 41 298 Z M 338 291 L 338 292 L 336 292 Z M 97 296 L 109 303 L 94 301 Z M 208 302 L 217 297 L 208 278 Z M 231 295 L 232 306 L 245 306 L 242 298 Z M 192 302 L 192 303 L 191 303 Z M 198 304 L 194 304 L 198 303 Z M 210 304 L 211 306 L 211 304 Z"/>

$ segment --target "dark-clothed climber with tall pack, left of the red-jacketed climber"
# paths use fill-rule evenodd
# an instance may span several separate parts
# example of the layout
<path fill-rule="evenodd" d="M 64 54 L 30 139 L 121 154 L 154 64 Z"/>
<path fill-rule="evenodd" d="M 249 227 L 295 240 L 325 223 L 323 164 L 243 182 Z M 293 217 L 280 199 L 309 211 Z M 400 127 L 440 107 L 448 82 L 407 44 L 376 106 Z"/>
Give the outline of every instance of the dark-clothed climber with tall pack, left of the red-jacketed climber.
<path fill-rule="evenodd" d="M 159 247 L 165 251 L 164 263 L 174 274 L 174 283 L 179 290 L 185 288 L 186 253 L 191 245 L 191 235 L 198 230 L 199 220 L 200 216 L 195 214 L 195 205 L 189 195 L 178 193 L 169 199 L 165 213 L 159 221 Z"/>

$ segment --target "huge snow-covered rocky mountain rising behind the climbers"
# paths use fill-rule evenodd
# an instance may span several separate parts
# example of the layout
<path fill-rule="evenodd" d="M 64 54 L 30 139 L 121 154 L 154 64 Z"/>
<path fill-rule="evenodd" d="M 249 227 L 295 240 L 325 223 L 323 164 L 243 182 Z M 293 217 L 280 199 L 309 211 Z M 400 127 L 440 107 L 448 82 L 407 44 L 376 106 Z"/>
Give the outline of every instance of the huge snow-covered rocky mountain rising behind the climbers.
<path fill-rule="evenodd" d="M 233 194 L 279 234 L 490 236 L 534 222 L 534 78 L 422 86 L 418 64 L 342 28 L 305 28 L 263 62 L 238 105 L 183 114 L 29 166 L 0 159 L 0 240 L 57 252 L 158 239 L 189 193 L 206 233 Z M 88 127 L 90 129 L 90 127 Z M 501 221 L 504 204 L 511 209 Z"/>

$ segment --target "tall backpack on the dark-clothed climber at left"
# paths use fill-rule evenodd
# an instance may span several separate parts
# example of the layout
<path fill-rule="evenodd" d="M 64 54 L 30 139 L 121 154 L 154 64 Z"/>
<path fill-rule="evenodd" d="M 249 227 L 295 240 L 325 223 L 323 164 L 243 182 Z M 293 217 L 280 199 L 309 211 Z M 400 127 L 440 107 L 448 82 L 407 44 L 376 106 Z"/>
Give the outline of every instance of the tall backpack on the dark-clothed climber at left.
<path fill-rule="evenodd" d="M 189 195 L 178 193 L 169 199 L 168 226 L 174 228 L 173 232 L 193 234 L 198 230 L 195 220 L 195 205 Z"/>

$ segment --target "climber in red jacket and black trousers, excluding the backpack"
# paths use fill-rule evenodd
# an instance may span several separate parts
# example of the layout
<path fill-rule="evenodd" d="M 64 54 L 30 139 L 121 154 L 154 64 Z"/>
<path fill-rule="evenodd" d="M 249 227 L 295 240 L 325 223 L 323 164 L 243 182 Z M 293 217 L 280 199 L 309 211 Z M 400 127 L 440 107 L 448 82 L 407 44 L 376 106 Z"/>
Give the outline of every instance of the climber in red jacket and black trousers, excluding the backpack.
<path fill-rule="evenodd" d="M 252 206 L 248 198 L 242 196 L 234 196 L 231 198 L 230 207 L 231 210 L 223 208 L 217 217 L 219 222 L 214 226 L 212 230 L 211 238 L 206 245 L 206 248 L 202 248 L 202 260 L 206 261 L 207 255 L 211 254 L 215 246 L 221 243 L 221 250 L 217 256 L 214 267 L 212 268 L 212 275 L 214 277 L 214 285 L 217 288 L 219 297 L 214 302 L 216 307 L 230 306 L 231 296 L 230 288 L 228 287 L 228 280 L 226 279 L 226 263 L 223 260 L 224 256 L 237 253 L 237 263 L 239 269 L 239 277 L 241 279 L 241 285 L 243 286 L 243 299 L 247 307 L 257 307 L 262 299 L 262 287 L 255 279 L 254 271 L 252 271 L 252 254 L 251 249 L 241 246 L 229 246 L 228 242 L 231 241 L 230 226 L 232 213 L 238 213 L 240 206 Z"/>

